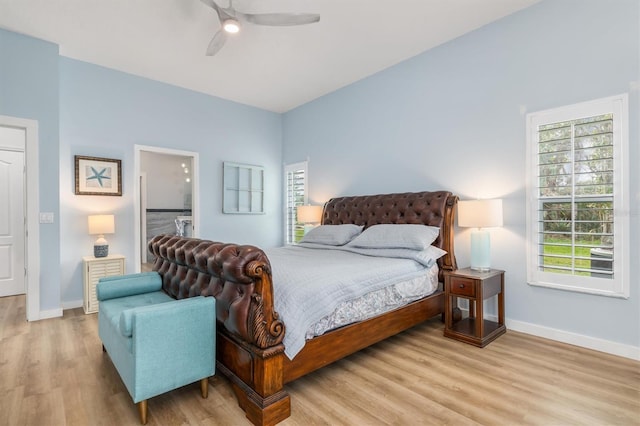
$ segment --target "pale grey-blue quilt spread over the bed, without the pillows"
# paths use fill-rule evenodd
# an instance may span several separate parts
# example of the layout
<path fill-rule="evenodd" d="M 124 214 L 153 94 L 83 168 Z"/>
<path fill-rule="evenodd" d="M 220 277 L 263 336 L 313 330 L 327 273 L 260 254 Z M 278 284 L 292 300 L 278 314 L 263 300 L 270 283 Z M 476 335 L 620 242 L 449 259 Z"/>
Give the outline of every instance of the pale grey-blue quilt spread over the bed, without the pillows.
<path fill-rule="evenodd" d="M 273 274 L 275 309 L 286 326 L 284 345 L 289 359 L 304 347 L 309 328 L 340 304 L 424 276 L 426 264 L 435 263 L 424 261 L 424 256 L 416 258 L 412 250 L 405 254 L 377 250 L 374 256 L 373 252 L 362 255 L 287 246 L 265 252 Z M 378 257 L 385 254 L 399 257 Z M 410 258 L 400 257 L 405 255 Z"/>

